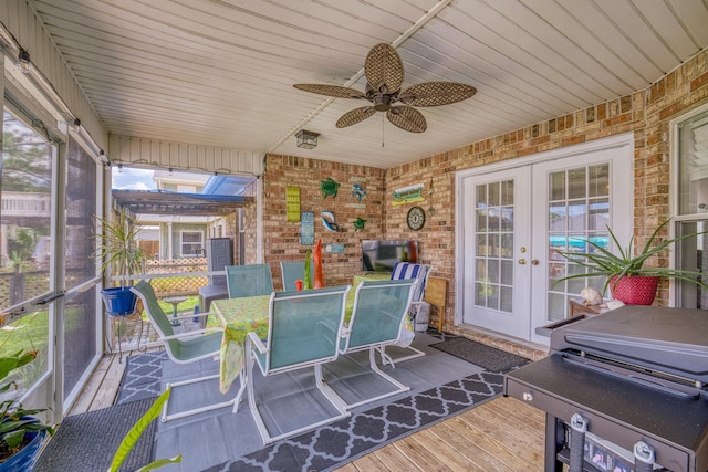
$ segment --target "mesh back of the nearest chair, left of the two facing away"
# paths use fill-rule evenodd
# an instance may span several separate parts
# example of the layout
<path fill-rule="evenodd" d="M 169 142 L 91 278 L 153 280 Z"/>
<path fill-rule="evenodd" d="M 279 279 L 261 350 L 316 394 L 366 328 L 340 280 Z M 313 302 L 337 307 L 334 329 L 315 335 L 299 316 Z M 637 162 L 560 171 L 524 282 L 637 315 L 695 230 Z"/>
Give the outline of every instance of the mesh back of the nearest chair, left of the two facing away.
<path fill-rule="evenodd" d="M 273 293 L 266 373 L 334 360 L 350 289 Z"/>

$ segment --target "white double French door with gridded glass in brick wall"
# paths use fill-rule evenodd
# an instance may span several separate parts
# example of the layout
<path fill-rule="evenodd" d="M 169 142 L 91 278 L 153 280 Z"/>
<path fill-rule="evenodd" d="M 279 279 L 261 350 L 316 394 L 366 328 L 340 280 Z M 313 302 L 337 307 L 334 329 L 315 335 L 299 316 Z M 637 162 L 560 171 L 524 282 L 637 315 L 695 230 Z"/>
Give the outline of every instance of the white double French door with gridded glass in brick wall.
<path fill-rule="evenodd" d="M 461 321 L 548 344 L 535 328 L 565 318 L 569 298 L 604 282 L 559 282 L 583 268 L 555 250 L 584 251 L 587 240 L 612 250 L 607 225 L 621 239 L 632 233 L 632 154 L 631 139 L 613 139 L 458 176 Z"/>

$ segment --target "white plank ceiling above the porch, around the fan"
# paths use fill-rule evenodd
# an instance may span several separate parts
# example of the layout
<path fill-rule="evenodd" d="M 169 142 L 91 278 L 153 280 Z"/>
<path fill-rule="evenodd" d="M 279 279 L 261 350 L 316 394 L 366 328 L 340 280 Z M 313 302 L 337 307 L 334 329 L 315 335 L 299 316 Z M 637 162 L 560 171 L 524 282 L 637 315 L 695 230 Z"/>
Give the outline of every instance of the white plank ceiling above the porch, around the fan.
<path fill-rule="evenodd" d="M 643 90 L 708 46 L 701 0 L 29 0 L 111 134 L 389 168 Z M 421 134 L 365 103 L 369 49 L 403 59 L 404 87 L 473 85 L 418 108 Z M 354 78 L 354 81 L 353 81 Z M 301 129 L 320 144 L 295 146 Z"/>

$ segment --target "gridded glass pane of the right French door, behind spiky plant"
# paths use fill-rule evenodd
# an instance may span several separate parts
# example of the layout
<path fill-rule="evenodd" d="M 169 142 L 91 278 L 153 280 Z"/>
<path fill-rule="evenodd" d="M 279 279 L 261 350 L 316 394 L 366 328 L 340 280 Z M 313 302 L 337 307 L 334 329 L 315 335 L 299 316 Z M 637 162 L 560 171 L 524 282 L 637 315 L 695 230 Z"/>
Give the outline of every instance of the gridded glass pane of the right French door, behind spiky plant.
<path fill-rule="evenodd" d="M 562 319 L 566 315 L 569 298 L 580 296 L 580 292 L 584 287 L 602 287 L 604 283 L 602 277 L 579 277 L 556 283 L 559 279 L 566 275 L 586 273 L 584 266 L 569 263 L 558 251 L 585 252 L 592 250 L 593 247 L 587 244 L 587 241 L 607 248 L 608 170 L 610 166 L 603 164 L 552 172 L 549 178 L 549 182 L 556 186 L 549 193 L 558 197 L 548 203 L 549 321 Z M 562 179 L 562 175 L 566 175 L 568 179 Z M 564 190 L 560 188 L 561 183 L 565 183 Z"/>

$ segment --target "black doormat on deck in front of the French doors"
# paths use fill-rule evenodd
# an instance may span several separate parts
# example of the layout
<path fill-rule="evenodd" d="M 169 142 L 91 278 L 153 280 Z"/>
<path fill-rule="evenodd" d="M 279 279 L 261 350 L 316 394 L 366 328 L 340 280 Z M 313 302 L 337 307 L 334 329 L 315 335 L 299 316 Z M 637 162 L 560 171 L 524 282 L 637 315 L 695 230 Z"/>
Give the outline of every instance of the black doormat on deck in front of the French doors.
<path fill-rule="evenodd" d="M 530 363 L 525 357 L 517 356 L 466 337 L 455 337 L 442 343 L 431 344 L 430 347 L 476 364 L 492 373 L 506 373 L 514 367 Z"/>

